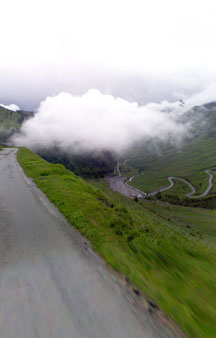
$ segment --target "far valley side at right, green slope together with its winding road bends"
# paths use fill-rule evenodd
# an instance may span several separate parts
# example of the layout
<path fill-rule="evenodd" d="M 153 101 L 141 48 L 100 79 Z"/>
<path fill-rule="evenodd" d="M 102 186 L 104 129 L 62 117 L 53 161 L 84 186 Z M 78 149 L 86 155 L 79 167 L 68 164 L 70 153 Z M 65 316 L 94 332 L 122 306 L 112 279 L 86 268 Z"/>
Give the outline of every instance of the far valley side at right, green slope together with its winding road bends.
<path fill-rule="evenodd" d="M 191 118 L 196 113 L 205 123 L 196 122 L 193 137 L 180 148 L 159 144 L 155 151 L 154 144 L 139 145 L 128 153 L 120 167 L 122 176 L 134 176 L 131 186 L 148 196 L 159 193 L 159 198 L 170 203 L 216 208 L 215 103 L 195 107 L 187 114 Z"/>

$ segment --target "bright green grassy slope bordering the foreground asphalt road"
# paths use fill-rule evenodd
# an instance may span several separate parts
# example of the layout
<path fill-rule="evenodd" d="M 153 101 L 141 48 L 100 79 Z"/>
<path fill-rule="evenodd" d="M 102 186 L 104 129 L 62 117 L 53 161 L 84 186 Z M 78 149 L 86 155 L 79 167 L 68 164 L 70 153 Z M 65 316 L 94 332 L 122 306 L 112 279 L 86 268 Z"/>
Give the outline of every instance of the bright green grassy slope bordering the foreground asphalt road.
<path fill-rule="evenodd" d="M 17 156 L 25 173 L 69 223 L 188 336 L 216 336 L 216 251 L 213 242 L 211 245 L 208 242 L 208 234 L 213 241 L 215 237 L 214 211 L 205 214 L 201 210 L 199 229 L 203 239 L 200 239 L 188 233 L 186 221 L 178 211 L 185 209 L 167 209 L 165 214 L 164 208 L 158 207 L 162 204 L 136 203 L 110 191 L 104 182 L 93 186 L 62 165 L 50 164 L 28 149 L 19 149 Z M 188 217 L 192 224 L 192 209 Z M 198 221 L 197 214 L 194 227 Z"/>

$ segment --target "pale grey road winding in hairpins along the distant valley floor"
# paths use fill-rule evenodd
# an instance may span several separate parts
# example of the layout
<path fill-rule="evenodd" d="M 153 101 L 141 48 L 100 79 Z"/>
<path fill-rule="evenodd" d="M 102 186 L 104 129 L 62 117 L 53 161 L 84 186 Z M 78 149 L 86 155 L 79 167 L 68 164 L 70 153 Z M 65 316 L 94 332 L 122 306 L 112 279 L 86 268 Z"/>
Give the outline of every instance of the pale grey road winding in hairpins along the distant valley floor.
<path fill-rule="evenodd" d="M 145 198 L 148 196 L 154 196 L 156 194 L 158 194 L 159 192 L 164 192 L 167 191 L 169 189 L 171 189 L 174 186 L 174 180 L 178 180 L 178 181 L 182 181 L 185 184 L 187 184 L 189 186 L 189 188 L 191 189 L 191 191 L 187 194 L 185 194 L 185 197 L 188 198 L 202 198 L 205 197 L 209 194 L 210 190 L 212 189 L 213 186 L 213 178 L 214 176 L 211 173 L 211 170 L 205 170 L 205 173 L 207 175 L 209 175 L 209 182 L 208 182 L 208 186 L 206 188 L 206 190 L 201 194 L 201 195 L 195 195 L 196 194 L 196 188 L 186 179 L 184 178 L 179 178 L 179 177 L 175 177 L 175 176 L 169 176 L 168 177 L 168 181 L 169 181 L 169 185 L 167 187 L 155 190 L 149 194 L 132 187 L 131 185 L 129 185 L 129 182 L 132 182 L 132 180 L 136 177 L 136 176 L 131 176 L 128 180 L 126 180 L 125 177 L 122 177 L 121 175 L 121 171 L 120 171 L 120 163 L 117 163 L 116 166 L 116 171 L 118 173 L 118 176 L 114 176 L 114 177 L 110 177 L 108 178 L 109 181 L 109 185 L 110 188 L 114 191 L 120 192 L 121 194 L 127 196 L 127 197 L 135 197 L 137 196 L 138 198 Z M 195 195 L 195 196 L 194 196 Z"/>

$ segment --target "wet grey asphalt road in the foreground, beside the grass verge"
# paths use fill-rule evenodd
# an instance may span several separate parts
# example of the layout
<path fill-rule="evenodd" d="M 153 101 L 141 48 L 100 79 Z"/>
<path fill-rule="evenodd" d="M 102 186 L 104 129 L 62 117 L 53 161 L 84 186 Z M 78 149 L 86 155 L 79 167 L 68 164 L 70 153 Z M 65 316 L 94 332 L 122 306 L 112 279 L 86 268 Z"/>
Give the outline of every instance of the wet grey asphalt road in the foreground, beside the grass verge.
<path fill-rule="evenodd" d="M 177 336 L 137 298 L 0 152 L 0 337 Z"/>

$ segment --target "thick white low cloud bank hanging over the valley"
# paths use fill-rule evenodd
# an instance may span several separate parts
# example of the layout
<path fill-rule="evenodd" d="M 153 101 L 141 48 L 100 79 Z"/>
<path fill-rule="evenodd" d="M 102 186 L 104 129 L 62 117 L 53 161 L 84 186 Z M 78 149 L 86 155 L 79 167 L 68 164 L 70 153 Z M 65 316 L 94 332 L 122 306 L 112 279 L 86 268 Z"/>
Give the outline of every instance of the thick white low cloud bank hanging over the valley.
<path fill-rule="evenodd" d="M 96 89 L 82 96 L 61 93 L 40 104 L 13 142 L 32 149 L 58 146 L 72 153 L 119 153 L 142 139 L 179 143 L 190 130 L 190 124 L 178 120 L 186 107 L 187 100 L 140 106 Z"/>

